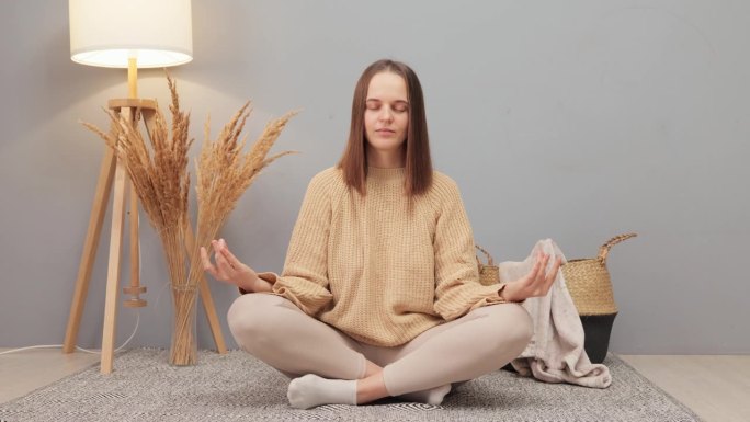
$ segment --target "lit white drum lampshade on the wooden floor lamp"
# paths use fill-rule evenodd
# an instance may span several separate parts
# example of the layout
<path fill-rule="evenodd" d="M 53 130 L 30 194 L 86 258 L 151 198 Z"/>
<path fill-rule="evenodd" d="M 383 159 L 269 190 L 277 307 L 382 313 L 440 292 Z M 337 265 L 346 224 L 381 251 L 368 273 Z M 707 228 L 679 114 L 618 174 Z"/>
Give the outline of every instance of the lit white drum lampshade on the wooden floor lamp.
<path fill-rule="evenodd" d="M 70 58 L 82 65 L 167 67 L 193 59 L 190 0 L 69 0 Z"/>

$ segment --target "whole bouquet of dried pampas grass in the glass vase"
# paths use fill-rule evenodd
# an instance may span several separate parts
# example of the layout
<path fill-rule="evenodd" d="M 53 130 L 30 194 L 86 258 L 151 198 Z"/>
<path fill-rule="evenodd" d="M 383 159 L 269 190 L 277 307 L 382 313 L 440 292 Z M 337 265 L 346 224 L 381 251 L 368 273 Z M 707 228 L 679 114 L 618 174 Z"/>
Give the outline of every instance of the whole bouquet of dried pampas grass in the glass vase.
<path fill-rule="evenodd" d="M 204 141 L 195 160 L 196 236 L 189 251 L 190 260 L 185 262 L 185 236 L 190 224 L 188 151 L 193 139 L 189 137 L 190 114 L 180 110 L 177 84 L 169 75 L 167 83 L 171 93 L 171 133 L 157 107 L 148 146 L 137 127 L 111 111 L 107 112 L 112 121 L 110 133 L 88 123 L 83 125 L 100 135 L 126 166 L 146 215 L 161 239 L 172 287 L 174 317 L 169 362 L 172 365 L 194 365 L 197 362 L 197 286 L 203 276 L 200 248 L 208 247 L 217 237 L 240 196 L 261 170 L 295 152 L 268 156 L 296 112 L 269 122 L 247 151 L 247 135 L 242 136 L 242 129 L 250 115 L 249 102 L 240 107 L 214 140 L 211 139 L 209 121 L 206 122 Z"/>

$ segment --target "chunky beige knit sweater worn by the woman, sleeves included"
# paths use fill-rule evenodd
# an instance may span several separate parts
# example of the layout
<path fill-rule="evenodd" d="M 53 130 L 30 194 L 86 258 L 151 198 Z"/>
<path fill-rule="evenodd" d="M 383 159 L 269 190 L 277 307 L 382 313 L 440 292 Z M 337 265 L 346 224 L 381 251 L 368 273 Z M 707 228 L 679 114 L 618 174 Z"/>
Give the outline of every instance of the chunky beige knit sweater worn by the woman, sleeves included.
<path fill-rule="evenodd" d="M 284 271 L 260 273 L 273 293 L 353 339 L 404 344 L 480 306 L 502 285 L 478 281 L 474 237 L 456 183 L 435 172 L 407 212 L 404 169 L 370 168 L 366 195 L 340 169 L 305 194 Z"/>

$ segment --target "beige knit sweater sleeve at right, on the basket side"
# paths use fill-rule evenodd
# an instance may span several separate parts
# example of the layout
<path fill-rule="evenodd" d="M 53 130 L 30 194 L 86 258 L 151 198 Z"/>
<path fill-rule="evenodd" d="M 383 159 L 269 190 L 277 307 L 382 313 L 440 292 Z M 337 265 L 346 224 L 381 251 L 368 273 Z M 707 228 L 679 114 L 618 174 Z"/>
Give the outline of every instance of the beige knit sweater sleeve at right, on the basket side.
<path fill-rule="evenodd" d="M 479 283 L 474 235 L 458 187 L 447 181 L 438 189 L 442 202 L 434 238 L 434 310 L 451 321 L 481 306 L 503 303 L 504 284 Z"/>

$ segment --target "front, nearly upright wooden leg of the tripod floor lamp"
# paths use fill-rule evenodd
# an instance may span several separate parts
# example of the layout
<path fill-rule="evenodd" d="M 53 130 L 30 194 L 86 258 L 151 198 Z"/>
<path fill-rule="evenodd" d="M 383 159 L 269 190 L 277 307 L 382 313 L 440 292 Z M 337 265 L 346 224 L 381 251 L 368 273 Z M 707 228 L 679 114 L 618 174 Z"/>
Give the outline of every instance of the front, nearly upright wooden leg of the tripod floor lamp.
<path fill-rule="evenodd" d="M 120 293 L 120 255 L 123 247 L 125 223 L 125 166 L 117 159 L 114 176 L 114 201 L 112 203 L 112 230 L 110 238 L 110 263 L 106 274 L 106 297 L 104 300 L 104 330 L 102 332 L 102 374 L 112 374 L 114 360 L 115 328 L 117 319 L 117 294 Z"/>

